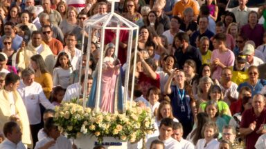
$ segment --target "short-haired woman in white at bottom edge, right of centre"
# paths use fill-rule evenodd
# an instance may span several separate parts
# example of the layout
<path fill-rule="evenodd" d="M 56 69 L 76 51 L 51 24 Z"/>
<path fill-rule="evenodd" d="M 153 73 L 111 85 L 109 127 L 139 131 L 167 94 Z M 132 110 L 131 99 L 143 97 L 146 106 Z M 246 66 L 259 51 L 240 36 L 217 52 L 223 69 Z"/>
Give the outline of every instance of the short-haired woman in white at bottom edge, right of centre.
<path fill-rule="evenodd" d="M 202 134 L 204 134 L 204 139 L 199 139 L 195 149 L 214 149 L 219 148 L 218 137 L 218 127 L 215 122 L 209 121 L 205 123 Z"/>

